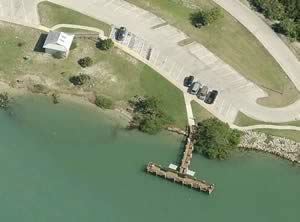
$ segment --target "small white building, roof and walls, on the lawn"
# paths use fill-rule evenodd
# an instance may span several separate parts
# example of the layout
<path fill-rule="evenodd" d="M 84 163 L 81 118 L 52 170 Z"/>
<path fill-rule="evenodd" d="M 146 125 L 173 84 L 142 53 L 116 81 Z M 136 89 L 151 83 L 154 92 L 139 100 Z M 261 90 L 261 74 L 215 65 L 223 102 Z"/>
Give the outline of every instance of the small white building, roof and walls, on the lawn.
<path fill-rule="evenodd" d="M 59 57 L 66 57 L 69 54 L 74 35 L 64 32 L 50 31 L 47 35 L 43 48 L 46 53 Z"/>

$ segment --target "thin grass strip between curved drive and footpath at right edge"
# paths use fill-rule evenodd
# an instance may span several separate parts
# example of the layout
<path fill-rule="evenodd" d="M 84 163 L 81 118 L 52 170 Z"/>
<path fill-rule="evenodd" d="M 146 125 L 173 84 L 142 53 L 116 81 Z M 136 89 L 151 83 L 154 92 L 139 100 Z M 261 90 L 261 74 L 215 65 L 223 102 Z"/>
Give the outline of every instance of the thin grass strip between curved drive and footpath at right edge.
<path fill-rule="evenodd" d="M 239 112 L 234 124 L 237 126 L 253 126 L 253 125 L 278 125 L 278 126 L 300 126 L 300 120 L 299 121 L 291 121 L 291 122 L 285 122 L 285 123 L 268 123 L 263 122 L 259 120 L 252 119 L 251 117 L 245 115 L 242 112 Z"/>

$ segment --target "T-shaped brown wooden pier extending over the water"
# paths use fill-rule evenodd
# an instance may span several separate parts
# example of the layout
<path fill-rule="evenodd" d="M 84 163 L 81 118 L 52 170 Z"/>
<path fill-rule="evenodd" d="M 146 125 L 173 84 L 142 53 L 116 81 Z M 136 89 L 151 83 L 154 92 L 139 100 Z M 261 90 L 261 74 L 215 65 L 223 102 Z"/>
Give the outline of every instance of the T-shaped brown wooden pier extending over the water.
<path fill-rule="evenodd" d="M 214 190 L 214 184 L 210 184 L 204 180 L 199 180 L 194 176 L 188 174 L 188 167 L 191 164 L 192 152 L 193 152 L 193 127 L 188 128 L 188 136 L 186 139 L 186 145 L 183 152 L 183 157 L 179 169 L 164 168 L 155 163 L 148 163 L 146 171 L 148 173 L 155 174 L 165 179 L 177 182 L 199 191 L 211 194 Z"/>

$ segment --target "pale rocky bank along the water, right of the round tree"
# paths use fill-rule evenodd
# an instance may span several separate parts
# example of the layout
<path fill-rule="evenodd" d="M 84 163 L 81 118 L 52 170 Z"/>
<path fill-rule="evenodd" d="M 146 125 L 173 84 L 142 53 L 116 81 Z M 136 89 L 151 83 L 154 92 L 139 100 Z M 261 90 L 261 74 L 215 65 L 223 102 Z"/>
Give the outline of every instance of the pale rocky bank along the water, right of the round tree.
<path fill-rule="evenodd" d="M 294 163 L 300 163 L 300 143 L 286 138 L 247 131 L 241 137 L 239 146 L 243 149 L 271 153 Z"/>

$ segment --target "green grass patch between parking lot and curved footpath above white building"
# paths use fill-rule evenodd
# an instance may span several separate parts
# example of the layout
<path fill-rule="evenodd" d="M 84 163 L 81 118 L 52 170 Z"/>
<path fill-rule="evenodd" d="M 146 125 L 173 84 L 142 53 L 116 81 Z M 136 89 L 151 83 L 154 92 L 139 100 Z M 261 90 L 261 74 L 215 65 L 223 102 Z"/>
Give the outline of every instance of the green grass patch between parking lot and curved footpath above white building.
<path fill-rule="evenodd" d="M 74 24 L 102 29 L 106 35 L 111 31 L 110 25 L 104 22 L 51 2 L 39 3 L 38 12 L 41 24 L 49 28 L 57 24 Z"/>

